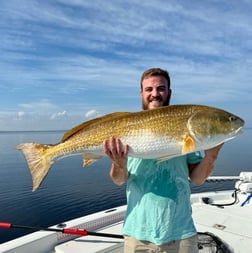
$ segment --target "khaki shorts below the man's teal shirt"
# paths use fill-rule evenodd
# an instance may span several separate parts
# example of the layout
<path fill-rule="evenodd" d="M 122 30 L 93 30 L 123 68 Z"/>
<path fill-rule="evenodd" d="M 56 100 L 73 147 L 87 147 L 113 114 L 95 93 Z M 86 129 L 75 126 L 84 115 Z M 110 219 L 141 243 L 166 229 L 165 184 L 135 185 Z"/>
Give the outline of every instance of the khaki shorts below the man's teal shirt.
<path fill-rule="evenodd" d="M 155 245 L 148 241 L 138 241 L 134 237 L 125 236 L 124 253 L 199 253 L 198 236 L 183 240 L 171 241 Z"/>

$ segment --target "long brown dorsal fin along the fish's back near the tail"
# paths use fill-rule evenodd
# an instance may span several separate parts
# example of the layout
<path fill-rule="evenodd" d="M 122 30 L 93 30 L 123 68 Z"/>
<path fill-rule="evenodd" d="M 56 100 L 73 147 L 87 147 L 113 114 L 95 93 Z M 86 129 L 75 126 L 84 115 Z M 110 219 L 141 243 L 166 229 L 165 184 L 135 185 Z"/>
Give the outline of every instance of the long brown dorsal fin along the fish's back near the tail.
<path fill-rule="evenodd" d="M 127 116 L 129 114 L 132 114 L 132 113 L 131 112 L 114 112 L 114 113 L 106 114 L 106 115 L 98 117 L 98 118 L 94 118 L 94 119 L 85 121 L 85 122 L 81 123 L 80 125 L 77 125 L 74 128 L 68 130 L 63 135 L 63 137 L 61 139 L 61 142 L 66 141 L 71 136 L 73 136 L 75 133 L 82 130 L 83 128 L 89 127 L 91 125 L 95 125 L 97 123 L 101 124 L 102 122 L 105 122 L 105 121 L 108 121 L 108 120 L 113 120 L 113 119 L 120 118 L 120 117 L 124 117 L 124 116 Z"/>

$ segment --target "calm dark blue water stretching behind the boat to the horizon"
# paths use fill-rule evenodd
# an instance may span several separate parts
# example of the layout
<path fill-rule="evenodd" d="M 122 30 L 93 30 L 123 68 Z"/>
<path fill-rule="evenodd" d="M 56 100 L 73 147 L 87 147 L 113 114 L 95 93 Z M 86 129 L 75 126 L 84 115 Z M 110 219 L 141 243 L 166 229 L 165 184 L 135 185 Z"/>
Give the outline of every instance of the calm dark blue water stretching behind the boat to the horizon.
<path fill-rule="evenodd" d="M 0 132 L 0 221 L 32 226 L 51 226 L 126 203 L 125 187 L 115 186 L 109 176 L 110 161 L 104 158 L 82 168 L 82 157 L 58 161 L 42 186 L 32 192 L 26 162 L 16 145 L 23 142 L 56 143 L 63 131 Z M 216 162 L 214 175 L 239 175 L 251 171 L 249 148 L 252 129 L 227 142 Z M 232 189 L 234 182 L 205 183 L 192 192 Z M 0 243 L 32 232 L 0 229 Z"/>

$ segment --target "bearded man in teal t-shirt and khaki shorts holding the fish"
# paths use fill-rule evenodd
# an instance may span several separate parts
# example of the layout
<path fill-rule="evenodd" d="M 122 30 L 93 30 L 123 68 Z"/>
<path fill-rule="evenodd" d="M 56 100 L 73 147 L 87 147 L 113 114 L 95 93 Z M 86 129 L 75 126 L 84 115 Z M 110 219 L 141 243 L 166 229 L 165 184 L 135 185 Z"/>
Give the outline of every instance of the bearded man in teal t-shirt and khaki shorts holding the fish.
<path fill-rule="evenodd" d="M 152 68 L 141 78 L 143 110 L 169 105 L 170 77 Z M 111 137 L 103 150 L 112 160 L 110 177 L 127 182 L 127 212 L 123 226 L 124 252 L 196 253 L 197 232 L 191 217 L 190 186 L 210 175 L 222 145 L 167 161 L 127 157 L 128 146 Z"/>

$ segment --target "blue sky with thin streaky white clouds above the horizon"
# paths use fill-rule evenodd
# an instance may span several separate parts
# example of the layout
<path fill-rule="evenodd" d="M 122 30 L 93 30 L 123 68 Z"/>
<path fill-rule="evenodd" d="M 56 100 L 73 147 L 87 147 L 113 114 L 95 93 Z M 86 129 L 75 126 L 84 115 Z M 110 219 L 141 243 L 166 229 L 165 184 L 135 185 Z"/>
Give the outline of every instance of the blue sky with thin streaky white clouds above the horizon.
<path fill-rule="evenodd" d="M 170 72 L 172 104 L 205 104 L 252 126 L 252 3 L 0 1 L 0 131 L 69 129 L 141 110 L 139 80 Z"/>

